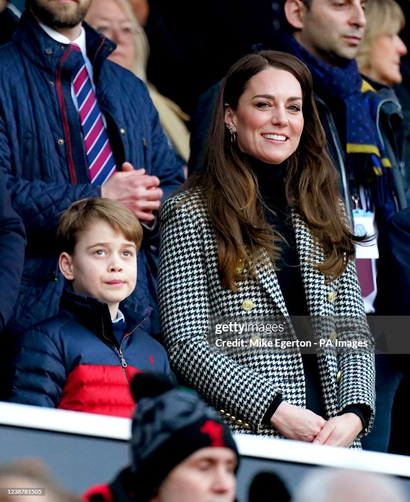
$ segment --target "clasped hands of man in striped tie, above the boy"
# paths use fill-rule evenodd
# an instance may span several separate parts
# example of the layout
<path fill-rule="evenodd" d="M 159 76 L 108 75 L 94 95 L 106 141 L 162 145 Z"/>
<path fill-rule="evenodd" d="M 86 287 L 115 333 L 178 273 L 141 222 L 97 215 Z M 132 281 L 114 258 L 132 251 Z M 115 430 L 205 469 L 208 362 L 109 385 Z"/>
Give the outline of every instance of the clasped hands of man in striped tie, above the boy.
<path fill-rule="evenodd" d="M 124 162 L 122 170 L 102 185 L 101 197 L 121 202 L 142 221 L 153 221 L 163 195 L 159 183 L 157 176 L 150 176 L 145 169 L 134 169 L 132 164 Z"/>

